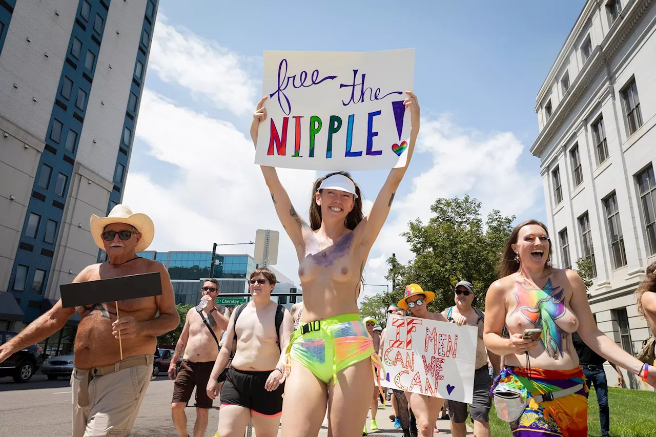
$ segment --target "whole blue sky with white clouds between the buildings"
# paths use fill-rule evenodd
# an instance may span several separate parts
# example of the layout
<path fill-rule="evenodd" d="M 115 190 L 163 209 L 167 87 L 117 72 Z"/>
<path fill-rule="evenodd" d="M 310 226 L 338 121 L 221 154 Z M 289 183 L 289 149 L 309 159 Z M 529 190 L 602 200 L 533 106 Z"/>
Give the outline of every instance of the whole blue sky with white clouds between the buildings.
<path fill-rule="evenodd" d="M 161 0 L 124 201 L 154 216 L 158 251 L 210 250 L 213 241 L 254 239 L 256 228 L 281 230 L 245 136 L 261 93 L 262 51 L 413 47 L 422 131 L 367 281 L 384 281 L 382 260 L 392 251 L 409 259 L 398 234 L 407 220 L 430 217 L 438 197 L 470 193 L 483 211 L 544 219 L 539 160 L 529 153 L 535 96 L 583 5 Z M 354 177 L 371 201 L 386 175 Z M 288 187 L 298 211 L 316 176 L 281 172 L 283 183 L 298 182 Z M 286 239 L 277 268 L 297 281 Z"/>

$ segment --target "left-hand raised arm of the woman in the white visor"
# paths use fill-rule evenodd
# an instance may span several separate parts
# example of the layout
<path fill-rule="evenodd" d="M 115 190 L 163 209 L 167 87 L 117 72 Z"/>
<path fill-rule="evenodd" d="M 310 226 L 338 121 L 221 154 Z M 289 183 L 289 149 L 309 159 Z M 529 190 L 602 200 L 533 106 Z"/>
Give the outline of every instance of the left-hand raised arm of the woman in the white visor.
<path fill-rule="evenodd" d="M 255 114 L 253 114 L 253 121 L 251 122 L 251 138 L 253 138 L 253 145 L 255 148 L 257 148 L 257 136 L 258 129 L 260 129 L 260 123 L 266 120 L 266 108 L 264 108 L 264 102 L 266 102 L 267 98 L 268 97 L 266 96 L 262 97 L 262 100 L 257 104 Z M 304 236 L 306 232 L 312 232 L 310 225 L 298 215 L 294 206 L 291 204 L 287 191 L 280 183 L 276 167 L 260 165 L 260 169 L 262 169 L 262 175 L 264 175 L 264 182 L 266 182 L 266 186 L 269 188 L 271 200 L 274 202 L 276 214 L 278 215 L 283 228 L 285 228 L 287 235 L 291 239 L 291 242 L 296 247 L 298 258 L 301 259 L 305 256 Z"/>

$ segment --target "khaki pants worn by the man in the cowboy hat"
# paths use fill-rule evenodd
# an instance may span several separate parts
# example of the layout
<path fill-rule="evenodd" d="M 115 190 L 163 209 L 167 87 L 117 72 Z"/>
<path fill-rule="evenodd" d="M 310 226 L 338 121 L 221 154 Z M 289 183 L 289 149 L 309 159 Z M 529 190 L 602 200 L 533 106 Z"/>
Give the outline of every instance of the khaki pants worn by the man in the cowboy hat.
<path fill-rule="evenodd" d="M 119 362 L 116 371 L 108 371 L 107 367 L 73 370 L 71 375 L 73 437 L 129 437 L 131 435 L 153 372 L 153 356 L 140 357 L 144 357 L 143 361 L 146 365 L 123 368 Z M 88 402 L 83 399 L 85 379 L 89 381 Z M 79 399 L 81 389 L 82 395 Z M 79 406 L 78 403 L 86 405 Z"/>

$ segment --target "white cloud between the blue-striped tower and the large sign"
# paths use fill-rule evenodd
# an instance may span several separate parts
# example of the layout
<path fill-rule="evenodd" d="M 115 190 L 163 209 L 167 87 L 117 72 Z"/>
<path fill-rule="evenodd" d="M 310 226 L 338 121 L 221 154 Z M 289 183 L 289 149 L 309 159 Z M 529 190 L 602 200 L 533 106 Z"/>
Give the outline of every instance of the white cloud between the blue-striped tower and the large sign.
<path fill-rule="evenodd" d="M 162 81 L 185 87 L 194 98 L 237 115 L 253 110 L 256 81 L 245 70 L 245 60 L 216 41 L 167 24 L 162 14 L 157 17 L 148 66 Z"/>

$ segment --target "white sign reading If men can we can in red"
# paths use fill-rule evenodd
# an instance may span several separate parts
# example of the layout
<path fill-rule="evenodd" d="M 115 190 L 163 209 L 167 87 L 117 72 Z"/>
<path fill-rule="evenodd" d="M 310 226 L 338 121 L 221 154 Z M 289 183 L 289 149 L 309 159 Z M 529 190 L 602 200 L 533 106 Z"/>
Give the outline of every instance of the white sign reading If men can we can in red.
<path fill-rule="evenodd" d="M 472 403 L 476 327 L 392 314 L 384 340 L 382 386 Z"/>

